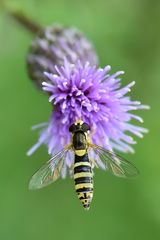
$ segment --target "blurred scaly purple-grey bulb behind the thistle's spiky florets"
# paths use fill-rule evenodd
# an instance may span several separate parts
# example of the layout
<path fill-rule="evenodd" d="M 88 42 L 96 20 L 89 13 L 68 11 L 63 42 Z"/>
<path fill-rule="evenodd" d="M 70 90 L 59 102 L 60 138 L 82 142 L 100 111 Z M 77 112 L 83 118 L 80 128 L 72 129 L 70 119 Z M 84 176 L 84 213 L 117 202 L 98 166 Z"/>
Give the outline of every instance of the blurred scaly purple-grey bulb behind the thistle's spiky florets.
<path fill-rule="evenodd" d="M 76 28 L 53 25 L 42 30 L 32 41 L 27 56 L 29 77 L 42 89 L 44 72 L 56 73 L 55 66 L 63 66 L 64 59 L 98 64 L 92 43 Z"/>

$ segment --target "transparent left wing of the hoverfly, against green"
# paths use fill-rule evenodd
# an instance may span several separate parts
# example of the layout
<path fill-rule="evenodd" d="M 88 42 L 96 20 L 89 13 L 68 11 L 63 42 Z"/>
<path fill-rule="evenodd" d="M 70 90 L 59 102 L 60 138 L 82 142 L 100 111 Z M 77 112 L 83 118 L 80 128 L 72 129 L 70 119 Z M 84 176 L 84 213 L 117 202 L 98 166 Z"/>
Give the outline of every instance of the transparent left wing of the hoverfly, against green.
<path fill-rule="evenodd" d="M 46 187 L 47 185 L 55 182 L 61 173 L 64 166 L 64 160 L 68 148 L 64 148 L 55 154 L 48 162 L 46 162 L 31 178 L 29 182 L 29 189 L 35 190 Z"/>

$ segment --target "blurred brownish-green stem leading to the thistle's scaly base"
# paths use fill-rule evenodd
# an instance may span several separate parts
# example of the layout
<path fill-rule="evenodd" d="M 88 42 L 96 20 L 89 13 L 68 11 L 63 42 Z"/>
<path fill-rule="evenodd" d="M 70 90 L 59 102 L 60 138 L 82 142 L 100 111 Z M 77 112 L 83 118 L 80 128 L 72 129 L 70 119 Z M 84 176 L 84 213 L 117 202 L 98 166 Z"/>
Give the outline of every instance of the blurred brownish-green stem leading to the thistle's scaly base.
<path fill-rule="evenodd" d="M 25 16 L 21 12 L 8 12 L 11 17 L 13 17 L 19 24 L 21 24 L 24 28 L 26 28 L 29 32 L 33 34 L 37 34 L 43 30 L 43 27 L 41 27 L 38 23 L 32 21 L 27 16 Z"/>

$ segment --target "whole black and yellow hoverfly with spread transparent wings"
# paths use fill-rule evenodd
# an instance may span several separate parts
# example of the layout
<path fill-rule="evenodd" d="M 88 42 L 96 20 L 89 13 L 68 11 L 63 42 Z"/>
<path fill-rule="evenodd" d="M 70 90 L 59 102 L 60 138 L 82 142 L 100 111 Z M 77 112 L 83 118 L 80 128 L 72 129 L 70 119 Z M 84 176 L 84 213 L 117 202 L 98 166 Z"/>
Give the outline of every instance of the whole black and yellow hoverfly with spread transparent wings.
<path fill-rule="evenodd" d="M 132 177 L 138 174 L 137 168 L 129 161 L 112 151 L 97 146 L 90 141 L 90 126 L 77 120 L 69 128 L 71 143 L 55 154 L 31 178 L 30 189 L 43 188 L 55 182 L 65 167 L 66 154 L 74 152 L 73 178 L 75 190 L 85 209 L 89 209 L 93 198 L 93 168 L 103 167 L 118 177 Z M 94 152 L 95 159 L 89 155 Z"/>

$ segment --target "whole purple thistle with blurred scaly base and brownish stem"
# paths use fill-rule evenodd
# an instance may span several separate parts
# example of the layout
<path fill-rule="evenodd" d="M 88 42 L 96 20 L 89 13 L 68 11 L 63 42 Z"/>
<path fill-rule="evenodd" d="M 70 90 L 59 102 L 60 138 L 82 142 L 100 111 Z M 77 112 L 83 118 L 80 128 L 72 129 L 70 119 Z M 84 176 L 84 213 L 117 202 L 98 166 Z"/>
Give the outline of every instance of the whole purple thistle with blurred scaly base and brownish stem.
<path fill-rule="evenodd" d="M 98 68 L 94 47 L 79 30 L 60 25 L 42 28 L 17 12 L 10 14 L 37 35 L 27 56 L 28 74 L 54 106 L 49 122 L 33 127 L 41 128 L 40 137 L 28 155 L 42 144 L 53 155 L 70 142 L 69 126 L 79 118 L 94 131 L 93 143 L 133 152 L 131 145 L 136 142 L 130 134 L 142 138 L 147 130 L 130 123 L 143 122 L 130 111 L 149 108 L 126 96 L 135 82 L 121 88 L 123 71 L 110 75 L 110 66 Z"/>

